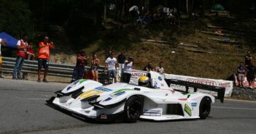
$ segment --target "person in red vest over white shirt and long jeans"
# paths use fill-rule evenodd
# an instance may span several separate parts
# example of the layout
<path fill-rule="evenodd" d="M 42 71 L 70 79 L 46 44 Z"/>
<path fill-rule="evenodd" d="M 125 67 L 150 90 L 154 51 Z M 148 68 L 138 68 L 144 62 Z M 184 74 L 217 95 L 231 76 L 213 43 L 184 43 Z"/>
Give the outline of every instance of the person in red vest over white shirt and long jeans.
<path fill-rule="evenodd" d="M 13 75 L 12 79 L 17 79 L 21 80 L 21 69 L 23 67 L 24 59 L 26 59 L 27 54 L 30 54 L 27 49 L 28 49 L 28 43 L 26 42 L 28 40 L 28 35 L 23 35 L 23 38 L 21 38 L 18 43 L 17 43 L 17 59 L 15 63 L 15 67 L 13 69 Z M 32 54 L 34 55 L 34 54 Z"/>

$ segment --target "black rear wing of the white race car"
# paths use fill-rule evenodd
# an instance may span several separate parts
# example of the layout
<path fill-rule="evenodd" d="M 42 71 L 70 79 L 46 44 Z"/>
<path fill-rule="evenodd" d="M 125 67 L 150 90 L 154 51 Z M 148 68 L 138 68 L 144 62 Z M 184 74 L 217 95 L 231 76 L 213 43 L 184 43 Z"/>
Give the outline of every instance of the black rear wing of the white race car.
<path fill-rule="evenodd" d="M 181 91 L 181 92 L 185 92 L 185 93 L 188 93 L 189 87 L 194 88 L 194 92 L 198 91 L 198 89 L 217 92 L 217 99 L 220 99 L 220 101 L 222 103 L 224 102 L 225 88 L 214 86 L 214 85 L 204 85 L 204 84 L 200 84 L 200 83 L 192 83 L 192 82 L 184 81 L 184 80 L 175 80 L 175 79 L 165 79 L 165 80 L 166 80 L 166 83 L 168 84 L 168 86 L 170 86 L 171 84 L 185 86 L 186 91 Z M 174 90 L 180 91 L 180 90 L 176 90 L 176 89 L 174 89 Z"/>

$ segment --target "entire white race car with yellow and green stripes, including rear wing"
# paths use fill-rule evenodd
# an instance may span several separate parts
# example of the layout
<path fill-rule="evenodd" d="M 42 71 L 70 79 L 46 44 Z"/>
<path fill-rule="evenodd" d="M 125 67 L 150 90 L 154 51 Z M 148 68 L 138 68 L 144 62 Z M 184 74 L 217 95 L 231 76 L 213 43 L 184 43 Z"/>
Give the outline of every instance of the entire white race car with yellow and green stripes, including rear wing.
<path fill-rule="evenodd" d="M 206 119 L 214 103 L 214 96 L 204 93 L 182 93 L 169 88 L 168 83 L 217 91 L 223 101 L 225 88 L 189 83 L 181 80 L 164 80 L 158 72 L 149 72 L 150 88 L 127 83 L 102 85 L 93 80 L 77 80 L 56 97 L 47 101 L 66 114 L 81 119 L 124 120 L 184 120 Z"/>

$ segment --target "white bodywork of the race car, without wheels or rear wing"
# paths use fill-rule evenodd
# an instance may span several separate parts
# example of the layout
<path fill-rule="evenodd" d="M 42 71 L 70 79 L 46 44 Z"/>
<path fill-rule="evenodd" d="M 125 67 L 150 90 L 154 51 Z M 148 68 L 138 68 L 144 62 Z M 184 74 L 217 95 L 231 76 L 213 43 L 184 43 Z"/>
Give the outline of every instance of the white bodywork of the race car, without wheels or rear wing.
<path fill-rule="evenodd" d="M 107 118 L 105 115 L 123 112 L 125 100 L 131 96 L 143 98 L 140 118 L 147 120 L 196 119 L 199 118 L 199 106 L 203 97 L 208 96 L 214 103 L 213 96 L 203 93 L 182 94 L 169 88 L 166 81 L 157 72 L 150 72 L 150 75 L 154 88 L 127 83 L 113 83 L 103 86 L 93 80 L 77 80 L 61 91 L 65 94 L 71 93 L 70 95 L 57 96 L 52 102 L 55 106 L 71 113 L 101 120 Z M 72 98 L 72 94 L 74 94 L 72 92 L 79 88 L 83 88 L 82 93 Z M 92 96 L 98 97 L 91 101 L 90 97 Z M 82 101 L 86 99 L 89 100 Z"/>

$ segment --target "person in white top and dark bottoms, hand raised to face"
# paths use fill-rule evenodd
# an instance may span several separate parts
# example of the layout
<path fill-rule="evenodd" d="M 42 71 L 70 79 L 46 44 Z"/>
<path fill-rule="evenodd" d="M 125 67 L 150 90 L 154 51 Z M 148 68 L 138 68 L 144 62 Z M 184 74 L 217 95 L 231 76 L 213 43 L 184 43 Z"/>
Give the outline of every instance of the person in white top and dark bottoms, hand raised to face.
<path fill-rule="evenodd" d="M 129 56 L 128 61 L 125 62 L 125 66 L 122 74 L 123 83 L 130 83 L 132 66 L 133 66 L 133 58 Z"/>

